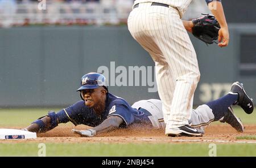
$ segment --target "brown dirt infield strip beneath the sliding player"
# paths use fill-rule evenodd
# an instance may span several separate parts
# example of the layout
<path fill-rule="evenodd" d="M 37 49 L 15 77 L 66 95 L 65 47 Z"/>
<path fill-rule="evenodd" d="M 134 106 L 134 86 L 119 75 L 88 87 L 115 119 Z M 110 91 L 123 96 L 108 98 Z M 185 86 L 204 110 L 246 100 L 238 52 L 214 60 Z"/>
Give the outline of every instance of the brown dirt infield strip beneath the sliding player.
<path fill-rule="evenodd" d="M 256 135 L 256 125 L 245 125 L 245 132 L 238 133 L 228 124 L 212 125 L 205 129 L 202 137 L 167 137 L 163 130 L 154 130 L 151 127 L 130 128 L 102 133 L 96 137 L 80 137 L 71 132 L 72 128 L 83 130 L 88 127 L 59 126 L 47 133 L 38 134 L 37 139 L 27 140 L 0 140 L 0 143 L 256 143 L 256 140 L 237 140 L 237 136 Z"/>

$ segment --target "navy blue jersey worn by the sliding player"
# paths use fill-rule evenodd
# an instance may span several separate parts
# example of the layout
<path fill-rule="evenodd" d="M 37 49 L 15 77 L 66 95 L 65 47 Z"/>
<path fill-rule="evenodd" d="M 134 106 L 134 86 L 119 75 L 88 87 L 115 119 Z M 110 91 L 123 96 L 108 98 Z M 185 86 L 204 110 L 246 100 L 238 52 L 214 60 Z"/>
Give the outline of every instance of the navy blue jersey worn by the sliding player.
<path fill-rule="evenodd" d="M 101 115 L 96 115 L 92 108 L 85 106 L 84 101 L 78 101 L 57 114 L 59 123 L 71 121 L 73 124 L 85 124 L 86 126 L 96 127 L 110 116 L 122 118 L 123 123 L 120 127 L 129 126 L 132 123 L 148 123 L 148 114 L 131 107 L 127 101 L 121 97 L 108 93 L 106 96 L 105 110 Z"/>

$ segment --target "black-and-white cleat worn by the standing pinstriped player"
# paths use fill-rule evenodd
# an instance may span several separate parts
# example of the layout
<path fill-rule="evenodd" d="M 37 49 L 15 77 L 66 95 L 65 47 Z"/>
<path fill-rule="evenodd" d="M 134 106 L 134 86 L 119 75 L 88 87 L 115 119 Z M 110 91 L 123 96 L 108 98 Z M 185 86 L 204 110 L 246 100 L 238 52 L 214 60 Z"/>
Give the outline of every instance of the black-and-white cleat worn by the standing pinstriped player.
<path fill-rule="evenodd" d="M 166 130 L 166 136 L 203 136 L 204 132 L 189 125 Z"/>

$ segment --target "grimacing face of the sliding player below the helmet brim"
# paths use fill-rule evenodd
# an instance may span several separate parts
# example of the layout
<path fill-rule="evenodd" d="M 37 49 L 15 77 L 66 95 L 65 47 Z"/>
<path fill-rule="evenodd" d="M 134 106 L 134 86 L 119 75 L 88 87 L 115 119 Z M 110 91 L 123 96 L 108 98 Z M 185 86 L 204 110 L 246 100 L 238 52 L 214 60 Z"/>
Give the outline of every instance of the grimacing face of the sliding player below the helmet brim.
<path fill-rule="evenodd" d="M 105 103 L 105 93 L 102 92 L 102 87 L 82 90 L 82 97 L 88 107 L 95 107 Z"/>

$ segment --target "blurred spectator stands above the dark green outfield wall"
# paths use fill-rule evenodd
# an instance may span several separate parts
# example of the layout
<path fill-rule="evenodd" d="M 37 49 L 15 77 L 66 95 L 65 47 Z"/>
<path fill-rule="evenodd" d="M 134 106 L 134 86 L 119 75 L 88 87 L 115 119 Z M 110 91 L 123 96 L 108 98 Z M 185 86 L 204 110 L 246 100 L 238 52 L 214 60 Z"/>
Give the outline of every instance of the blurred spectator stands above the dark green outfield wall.
<path fill-rule="evenodd" d="M 183 19 L 209 13 L 204 0 L 192 1 Z M 133 0 L 46 0 L 46 10 L 39 10 L 42 1 L 0 0 L 0 26 L 29 24 L 122 24 L 127 22 Z"/>

